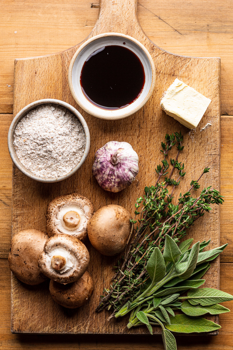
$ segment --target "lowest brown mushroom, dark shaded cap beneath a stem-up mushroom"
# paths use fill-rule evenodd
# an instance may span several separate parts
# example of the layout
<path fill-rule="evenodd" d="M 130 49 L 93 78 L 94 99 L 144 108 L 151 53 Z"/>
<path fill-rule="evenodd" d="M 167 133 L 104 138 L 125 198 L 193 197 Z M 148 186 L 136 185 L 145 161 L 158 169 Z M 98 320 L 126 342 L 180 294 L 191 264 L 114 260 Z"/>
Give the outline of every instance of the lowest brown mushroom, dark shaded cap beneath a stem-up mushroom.
<path fill-rule="evenodd" d="M 54 301 L 61 306 L 74 309 L 83 306 L 88 302 L 94 290 L 92 276 L 86 271 L 79 280 L 61 285 L 50 281 L 49 291 Z"/>

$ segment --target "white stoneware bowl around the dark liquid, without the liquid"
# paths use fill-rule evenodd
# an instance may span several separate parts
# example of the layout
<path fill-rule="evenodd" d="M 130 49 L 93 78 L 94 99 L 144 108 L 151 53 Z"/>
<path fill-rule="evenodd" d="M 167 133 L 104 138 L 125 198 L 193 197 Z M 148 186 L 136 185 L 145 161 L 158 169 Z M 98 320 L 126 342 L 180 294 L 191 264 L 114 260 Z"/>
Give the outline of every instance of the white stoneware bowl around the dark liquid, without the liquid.
<path fill-rule="evenodd" d="M 86 59 L 94 51 L 108 45 L 120 45 L 133 51 L 140 59 L 145 71 L 145 84 L 140 96 L 130 105 L 116 110 L 102 109 L 92 104 L 83 94 L 80 85 L 80 74 Z M 122 119 L 137 112 L 150 98 L 155 85 L 155 66 L 151 55 L 138 40 L 120 33 L 104 33 L 90 38 L 75 52 L 68 70 L 68 82 L 75 101 L 83 110 L 97 118 Z"/>

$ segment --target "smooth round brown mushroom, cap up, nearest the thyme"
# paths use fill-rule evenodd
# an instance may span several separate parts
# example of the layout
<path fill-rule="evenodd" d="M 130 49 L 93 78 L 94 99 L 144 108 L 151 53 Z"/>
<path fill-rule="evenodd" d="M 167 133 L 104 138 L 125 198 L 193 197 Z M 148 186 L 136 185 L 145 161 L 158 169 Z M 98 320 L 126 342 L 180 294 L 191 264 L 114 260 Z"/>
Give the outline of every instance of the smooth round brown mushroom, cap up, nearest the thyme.
<path fill-rule="evenodd" d="M 130 235 L 131 215 L 117 204 L 109 204 L 95 212 L 88 223 L 88 237 L 93 247 L 103 255 L 120 253 Z"/>

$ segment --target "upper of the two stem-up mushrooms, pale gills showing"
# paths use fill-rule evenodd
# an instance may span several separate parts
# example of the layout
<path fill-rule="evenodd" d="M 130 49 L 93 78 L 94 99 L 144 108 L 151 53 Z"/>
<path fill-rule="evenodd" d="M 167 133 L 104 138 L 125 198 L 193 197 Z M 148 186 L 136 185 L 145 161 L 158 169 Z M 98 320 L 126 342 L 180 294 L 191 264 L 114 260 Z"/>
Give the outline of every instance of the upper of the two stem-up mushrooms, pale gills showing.
<path fill-rule="evenodd" d="M 67 225 L 67 221 L 64 221 L 67 212 L 77 212 L 77 217 L 80 220 L 71 217 L 74 225 Z M 83 240 L 87 235 L 88 221 L 93 214 L 93 205 L 86 197 L 77 193 L 56 197 L 47 208 L 46 231 L 50 237 L 66 233 Z"/>

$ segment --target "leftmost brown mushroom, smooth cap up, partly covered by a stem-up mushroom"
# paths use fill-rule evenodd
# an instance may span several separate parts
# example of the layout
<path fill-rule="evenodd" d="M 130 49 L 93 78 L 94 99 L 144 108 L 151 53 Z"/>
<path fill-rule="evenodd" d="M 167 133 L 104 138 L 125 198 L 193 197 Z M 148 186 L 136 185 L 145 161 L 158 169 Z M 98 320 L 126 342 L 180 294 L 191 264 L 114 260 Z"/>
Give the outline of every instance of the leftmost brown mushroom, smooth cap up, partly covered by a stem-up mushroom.
<path fill-rule="evenodd" d="M 48 238 L 46 232 L 34 229 L 20 231 L 13 236 L 8 262 L 10 270 L 20 281 L 38 285 L 47 279 L 38 266 L 38 258 Z"/>

